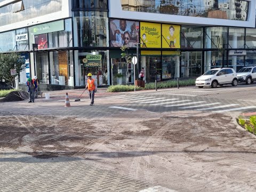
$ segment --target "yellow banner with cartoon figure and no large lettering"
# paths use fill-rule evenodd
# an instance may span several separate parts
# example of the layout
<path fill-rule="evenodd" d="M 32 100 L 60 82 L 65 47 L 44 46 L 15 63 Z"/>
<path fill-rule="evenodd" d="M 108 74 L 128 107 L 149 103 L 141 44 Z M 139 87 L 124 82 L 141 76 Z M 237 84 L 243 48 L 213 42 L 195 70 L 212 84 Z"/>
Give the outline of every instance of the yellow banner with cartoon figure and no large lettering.
<path fill-rule="evenodd" d="M 180 48 L 180 26 L 162 25 L 162 48 Z"/>

